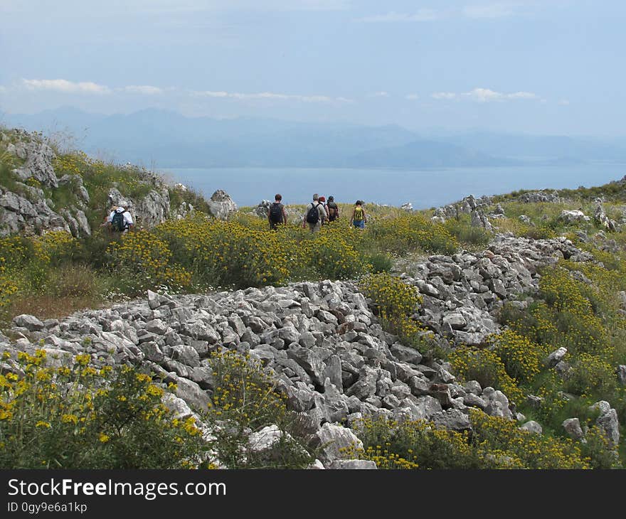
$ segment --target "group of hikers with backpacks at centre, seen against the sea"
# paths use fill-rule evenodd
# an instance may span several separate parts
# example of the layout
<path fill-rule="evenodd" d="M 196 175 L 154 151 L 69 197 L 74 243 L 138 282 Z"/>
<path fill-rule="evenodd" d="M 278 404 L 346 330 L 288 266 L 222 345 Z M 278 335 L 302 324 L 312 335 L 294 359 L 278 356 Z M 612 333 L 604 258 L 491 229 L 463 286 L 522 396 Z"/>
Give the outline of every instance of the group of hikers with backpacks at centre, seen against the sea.
<path fill-rule="evenodd" d="M 313 195 L 313 201 L 307 205 L 307 209 L 302 216 L 302 228 L 306 229 L 307 225 L 311 232 L 317 232 L 322 225 L 334 222 L 339 218 L 339 207 L 335 203 L 334 197 L 329 196 L 328 202 L 324 196 L 317 193 Z M 282 205 L 282 195 L 277 193 L 274 197 L 274 203 L 267 209 L 267 221 L 270 223 L 270 229 L 277 230 L 279 225 L 287 223 L 287 213 L 285 205 Z M 350 225 L 355 228 L 364 229 L 367 222 L 367 216 L 363 207 L 362 200 L 356 200 L 352 215 L 350 217 Z"/>

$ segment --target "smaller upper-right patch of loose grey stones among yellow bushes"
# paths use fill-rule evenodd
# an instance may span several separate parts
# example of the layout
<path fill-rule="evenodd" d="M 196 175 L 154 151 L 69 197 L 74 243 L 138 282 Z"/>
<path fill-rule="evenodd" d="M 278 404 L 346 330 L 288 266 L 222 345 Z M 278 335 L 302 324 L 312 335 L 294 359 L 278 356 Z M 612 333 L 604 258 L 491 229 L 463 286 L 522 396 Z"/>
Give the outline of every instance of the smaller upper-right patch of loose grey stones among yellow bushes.
<path fill-rule="evenodd" d="M 537 269 L 559 258 L 575 262 L 593 257 L 564 237 L 530 240 L 499 235 L 481 254 L 434 255 L 405 265 L 405 282 L 418 287 L 423 304 L 415 315 L 426 328 L 458 344 L 479 345 L 497 330 L 505 301 L 525 306 L 520 294 L 539 286 Z"/>

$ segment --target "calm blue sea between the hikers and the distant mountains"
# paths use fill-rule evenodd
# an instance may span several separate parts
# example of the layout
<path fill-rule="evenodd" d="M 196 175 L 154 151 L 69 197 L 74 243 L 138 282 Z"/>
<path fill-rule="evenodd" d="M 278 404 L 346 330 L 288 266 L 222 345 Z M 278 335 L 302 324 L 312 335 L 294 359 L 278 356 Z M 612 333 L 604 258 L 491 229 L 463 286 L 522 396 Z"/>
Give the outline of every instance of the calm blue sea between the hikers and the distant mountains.
<path fill-rule="evenodd" d="M 282 194 L 285 204 L 308 203 L 313 193 L 336 202 L 402 205 L 415 209 L 446 205 L 473 194 L 499 195 L 519 189 L 578 188 L 620 180 L 626 164 L 517 166 L 442 169 L 341 168 L 173 168 L 170 181 L 181 182 L 204 196 L 223 189 L 238 206 L 257 205 Z"/>

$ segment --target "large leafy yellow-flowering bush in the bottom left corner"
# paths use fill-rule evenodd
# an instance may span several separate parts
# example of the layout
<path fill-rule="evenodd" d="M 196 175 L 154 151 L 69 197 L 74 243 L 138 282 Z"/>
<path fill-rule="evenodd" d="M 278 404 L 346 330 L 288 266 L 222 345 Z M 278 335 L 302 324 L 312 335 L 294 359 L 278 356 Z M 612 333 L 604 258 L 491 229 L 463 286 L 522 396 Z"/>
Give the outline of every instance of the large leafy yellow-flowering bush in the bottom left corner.
<path fill-rule="evenodd" d="M 161 403 L 164 389 L 129 367 L 96 369 L 46 351 L 4 353 L 0 466 L 5 469 L 171 469 L 203 463 L 193 419 Z M 55 367 L 61 364 L 60 367 Z"/>

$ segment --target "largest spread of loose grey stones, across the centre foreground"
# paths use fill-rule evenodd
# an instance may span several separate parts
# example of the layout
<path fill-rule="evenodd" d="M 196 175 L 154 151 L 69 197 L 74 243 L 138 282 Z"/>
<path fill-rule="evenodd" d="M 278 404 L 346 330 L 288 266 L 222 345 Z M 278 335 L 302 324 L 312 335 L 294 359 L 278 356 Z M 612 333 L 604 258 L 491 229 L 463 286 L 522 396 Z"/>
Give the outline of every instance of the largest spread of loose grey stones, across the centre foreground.
<path fill-rule="evenodd" d="M 51 358 L 59 351 L 70 358 L 85 352 L 94 365 L 142 365 L 175 382 L 175 396 L 192 411 L 206 409 L 215 387 L 208 369 L 211 352 L 226 346 L 249 353 L 275 378 L 290 409 L 302 415 L 312 445 L 337 443 L 322 449 L 327 465 L 339 457 L 338 444 L 348 446 L 354 439 L 339 423 L 356 425 L 362 417 L 421 418 L 462 430 L 469 426 L 464 416 L 470 407 L 489 409 L 491 400 L 483 399 L 481 390 L 472 387 L 478 394 L 465 400 L 468 392 L 445 365 L 425 363 L 376 321 L 349 282 L 210 296 L 150 292 L 146 301 L 86 311 L 60 322 L 19 316 L 13 332 L 22 338 L 14 343 L 3 339 L 0 350 L 16 355 L 18 349 L 43 343 Z M 180 411 L 186 412 L 184 406 Z M 497 412 L 502 414 L 502 407 Z"/>

